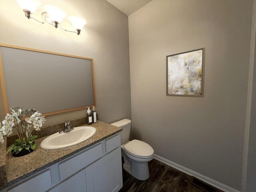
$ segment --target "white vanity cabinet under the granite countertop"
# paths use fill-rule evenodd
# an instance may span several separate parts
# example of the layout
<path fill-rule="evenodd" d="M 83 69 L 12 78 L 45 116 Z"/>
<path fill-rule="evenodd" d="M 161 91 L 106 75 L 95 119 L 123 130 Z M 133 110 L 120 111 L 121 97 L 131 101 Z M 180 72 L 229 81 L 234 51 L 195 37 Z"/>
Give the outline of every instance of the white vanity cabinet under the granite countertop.
<path fill-rule="evenodd" d="M 1 192 L 118 192 L 122 186 L 120 134 L 116 134 Z"/>

